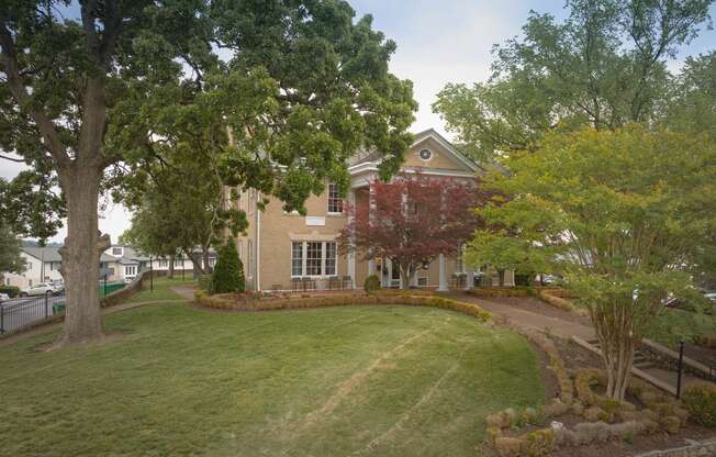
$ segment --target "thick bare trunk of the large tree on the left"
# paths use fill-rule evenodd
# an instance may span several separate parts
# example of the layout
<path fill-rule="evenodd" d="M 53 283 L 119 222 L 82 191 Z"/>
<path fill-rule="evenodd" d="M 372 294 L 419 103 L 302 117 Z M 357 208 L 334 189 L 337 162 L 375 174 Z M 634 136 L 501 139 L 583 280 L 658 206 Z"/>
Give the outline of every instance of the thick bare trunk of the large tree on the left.
<path fill-rule="evenodd" d="M 83 344 L 102 337 L 98 280 L 100 255 L 111 246 L 100 236 L 97 202 L 100 171 L 74 166 L 60 172 L 67 201 L 67 238 L 60 249 L 67 291 L 65 326 L 57 346 Z"/>

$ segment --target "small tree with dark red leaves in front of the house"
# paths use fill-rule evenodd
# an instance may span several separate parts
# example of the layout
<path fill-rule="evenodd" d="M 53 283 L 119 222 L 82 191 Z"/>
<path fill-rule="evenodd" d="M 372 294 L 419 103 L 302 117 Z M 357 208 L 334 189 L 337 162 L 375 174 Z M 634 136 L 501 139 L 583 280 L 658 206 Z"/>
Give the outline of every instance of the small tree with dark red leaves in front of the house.
<path fill-rule="evenodd" d="M 390 258 L 400 268 L 403 289 L 423 264 L 439 254 L 456 255 L 479 225 L 472 209 L 482 192 L 472 179 L 399 175 L 371 182 L 369 194 L 370 203 L 347 209 L 339 248 L 366 260 Z"/>

